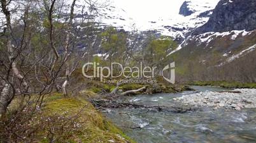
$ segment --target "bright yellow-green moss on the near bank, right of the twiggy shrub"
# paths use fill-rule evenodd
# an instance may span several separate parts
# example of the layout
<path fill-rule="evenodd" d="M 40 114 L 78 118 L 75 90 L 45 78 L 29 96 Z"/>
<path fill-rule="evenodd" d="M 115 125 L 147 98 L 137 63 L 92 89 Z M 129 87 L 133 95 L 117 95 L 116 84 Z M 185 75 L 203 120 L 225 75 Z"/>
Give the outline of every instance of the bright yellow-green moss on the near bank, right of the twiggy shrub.
<path fill-rule="evenodd" d="M 92 93 L 90 92 L 90 94 Z M 69 142 L 108 142 L 108 140 L 134 142 L 110 121 L 107 121 L 82 96 L 65 98 L 54 95 L 49 96 L 46 101 L 43 108 L 45 116 L 63 115 L 64 112 L 67 113 L 65 116 L 75 116 L 79 113 L 79 121 L 82 123 L 82 128 L 78 132 L 71 133 Z M 45 139 L 41 140 L 41 142 L 47 141 Z"/>

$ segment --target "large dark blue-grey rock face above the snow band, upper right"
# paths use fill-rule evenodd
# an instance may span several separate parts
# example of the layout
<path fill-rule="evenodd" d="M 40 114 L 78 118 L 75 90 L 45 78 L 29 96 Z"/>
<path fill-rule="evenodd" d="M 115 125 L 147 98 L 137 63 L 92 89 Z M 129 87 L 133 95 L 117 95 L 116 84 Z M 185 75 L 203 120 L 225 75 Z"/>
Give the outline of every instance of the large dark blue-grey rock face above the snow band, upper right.
<path fill-rule="evenodd" d="M 221 0 L 209 21 L 192 32 L 225 32 L 231 30 L 251 31 L 256 28 L 256 0 Z"/>

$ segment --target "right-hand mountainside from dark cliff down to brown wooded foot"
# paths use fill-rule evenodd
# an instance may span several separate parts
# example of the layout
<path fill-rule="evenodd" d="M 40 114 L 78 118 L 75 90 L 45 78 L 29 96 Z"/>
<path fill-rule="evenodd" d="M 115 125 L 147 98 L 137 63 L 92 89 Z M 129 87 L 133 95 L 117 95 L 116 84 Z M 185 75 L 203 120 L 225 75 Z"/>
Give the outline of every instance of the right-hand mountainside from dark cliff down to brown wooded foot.
<path fill-rule="evenodd" d="M 256 82 L 255 1 L 222 0 L 171 53 L 180 80 Z"/>

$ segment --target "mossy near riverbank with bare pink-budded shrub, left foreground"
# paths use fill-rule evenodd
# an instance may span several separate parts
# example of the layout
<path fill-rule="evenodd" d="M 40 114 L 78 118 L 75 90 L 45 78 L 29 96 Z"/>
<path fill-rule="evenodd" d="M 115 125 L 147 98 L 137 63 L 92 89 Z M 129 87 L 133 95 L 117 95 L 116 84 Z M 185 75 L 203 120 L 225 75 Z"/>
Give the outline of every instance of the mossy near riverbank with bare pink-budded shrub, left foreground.
<path fill-rule="evenodd" d="M 15 101 L 12 108 L 18 99 Z M 75 97 L 48 95 L 36 114 L 31 117 L 24 109 L 20 118 L 17 119 L 20 123 L 12 124 L 15 127 L 10 124 L 10 128 L 16 128 L 15 133 L 19 133 L 18 142 L 134 142 L 106 120 L 83 94 Z M 16 127 L 18 125 L 22 127 Z M 31 129 L 23 132 L 24 128 Z"/>

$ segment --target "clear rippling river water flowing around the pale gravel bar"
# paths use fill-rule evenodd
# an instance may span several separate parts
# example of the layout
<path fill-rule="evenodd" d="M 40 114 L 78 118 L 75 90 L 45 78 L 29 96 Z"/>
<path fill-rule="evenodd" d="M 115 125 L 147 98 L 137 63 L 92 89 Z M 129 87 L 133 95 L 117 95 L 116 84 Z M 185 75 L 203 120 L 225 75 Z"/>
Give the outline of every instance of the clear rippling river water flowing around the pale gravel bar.
<path fill-rule="evenodd" d="M 175 102 L 174 97 L 199 91 L 227 90 L 219 87 L 192 88 L 196 91 L 139 95 L 120 100 L 148 106 L 171 106 Z M 139 143 L 256 142 L 256 109 L 225 111 L 204 108 L 194 112 L 172 113 L 122 108 L 109 109 L 104 115 Z"/>

